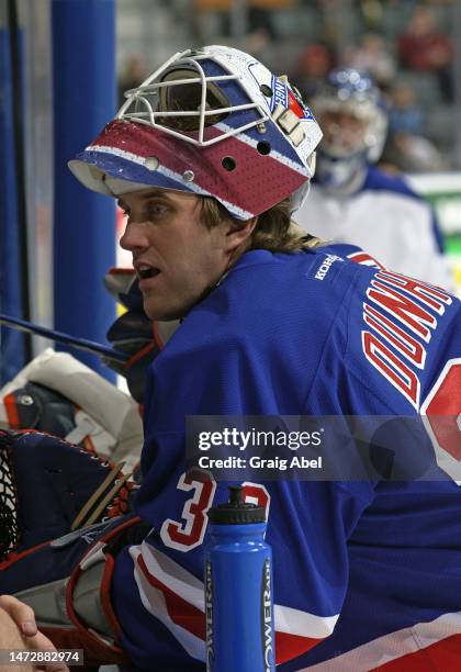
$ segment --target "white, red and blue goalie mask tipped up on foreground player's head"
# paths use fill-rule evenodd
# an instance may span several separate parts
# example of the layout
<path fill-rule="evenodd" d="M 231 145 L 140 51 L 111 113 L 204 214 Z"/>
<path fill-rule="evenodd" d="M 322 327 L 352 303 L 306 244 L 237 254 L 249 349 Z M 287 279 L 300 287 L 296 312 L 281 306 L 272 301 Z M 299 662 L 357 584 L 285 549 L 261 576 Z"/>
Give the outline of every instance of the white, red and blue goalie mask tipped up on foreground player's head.
<path fill-rule="evenodd" d="M 322 132 L 290 85 L 223 46 L 178 53 L 139 87 L 69 161 L 110 195 L 159 187 L 214 197 L 248 220 L 307 194 Z"/>

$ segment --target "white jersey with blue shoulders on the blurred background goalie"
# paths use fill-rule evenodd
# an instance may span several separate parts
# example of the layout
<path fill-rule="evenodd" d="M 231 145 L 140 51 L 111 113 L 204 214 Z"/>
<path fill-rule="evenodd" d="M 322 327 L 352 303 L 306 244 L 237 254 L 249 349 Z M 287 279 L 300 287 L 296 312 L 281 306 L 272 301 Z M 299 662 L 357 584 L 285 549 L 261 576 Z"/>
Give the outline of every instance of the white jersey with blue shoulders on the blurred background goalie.
<path fill-rule="evenodd" d="M 391 270 L 454 290 L 435 212 L 401 177 L 370 166 L 363 186 L 344 199 L 314 182 L 293 216 L 324 240 L 358 245 Z"/>

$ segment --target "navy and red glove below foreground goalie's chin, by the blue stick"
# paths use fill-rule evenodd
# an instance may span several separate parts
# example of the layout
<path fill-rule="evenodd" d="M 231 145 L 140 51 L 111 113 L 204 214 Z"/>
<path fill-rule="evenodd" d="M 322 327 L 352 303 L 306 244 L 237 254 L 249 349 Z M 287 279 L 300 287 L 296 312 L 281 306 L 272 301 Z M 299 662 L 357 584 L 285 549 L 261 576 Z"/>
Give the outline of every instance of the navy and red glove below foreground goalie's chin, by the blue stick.
<path fill-rule="evenodd" d="M 146 371 L 179 327 L 179 321 L 153 322 L 143 307 L 136 273 L 128 269 L 112 269 L 105 287 L 126 311 L 110 327 L 106 338 L 114 350 L 130 355 L 126 362 L 104 357 L 104 362 L 126 378 L 130 393 L 143 403 Z"/>

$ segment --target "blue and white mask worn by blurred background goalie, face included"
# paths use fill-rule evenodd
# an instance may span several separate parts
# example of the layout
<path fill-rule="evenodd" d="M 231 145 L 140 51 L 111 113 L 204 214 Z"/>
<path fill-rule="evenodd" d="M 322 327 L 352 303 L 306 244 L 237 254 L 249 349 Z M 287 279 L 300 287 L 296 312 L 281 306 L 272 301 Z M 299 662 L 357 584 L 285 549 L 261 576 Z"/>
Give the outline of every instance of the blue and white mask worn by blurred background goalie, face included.
<path fill-rule="evenodd" d="M 318 148 L 318 181 L 347 186 L 383 150 L 387 115 L 371 77 L 353 68 L 333 70 L 311 101 L 324 138 Z"/>

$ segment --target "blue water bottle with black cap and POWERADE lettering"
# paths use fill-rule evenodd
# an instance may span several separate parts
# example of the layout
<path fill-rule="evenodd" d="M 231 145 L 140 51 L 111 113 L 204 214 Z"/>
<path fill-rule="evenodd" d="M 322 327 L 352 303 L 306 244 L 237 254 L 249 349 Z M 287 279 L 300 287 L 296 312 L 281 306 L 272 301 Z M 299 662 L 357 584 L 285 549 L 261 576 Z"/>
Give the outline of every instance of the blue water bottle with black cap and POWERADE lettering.
<path fill-rule="evenodd" d="M 266 512 L 229 486 L 211 508 L 205 557 L 206 670 L 274 672 L 272 552 Z"/>

